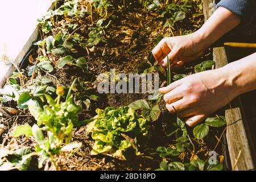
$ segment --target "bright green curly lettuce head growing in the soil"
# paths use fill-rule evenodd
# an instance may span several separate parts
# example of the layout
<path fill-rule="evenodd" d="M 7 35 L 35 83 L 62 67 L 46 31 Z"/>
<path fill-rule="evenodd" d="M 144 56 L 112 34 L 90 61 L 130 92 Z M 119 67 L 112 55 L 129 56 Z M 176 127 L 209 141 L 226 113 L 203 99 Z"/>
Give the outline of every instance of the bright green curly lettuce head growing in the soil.
<path fill-rule="evenodd" d="M 127 151 L 138 154 L 139 140 L 148 135 L 147 120 L 127 106 L 106 107 L 96 112 L 94 121 L 87 126 L 95 140 L 91 155 L 108 152 L 126 159 Z"/>

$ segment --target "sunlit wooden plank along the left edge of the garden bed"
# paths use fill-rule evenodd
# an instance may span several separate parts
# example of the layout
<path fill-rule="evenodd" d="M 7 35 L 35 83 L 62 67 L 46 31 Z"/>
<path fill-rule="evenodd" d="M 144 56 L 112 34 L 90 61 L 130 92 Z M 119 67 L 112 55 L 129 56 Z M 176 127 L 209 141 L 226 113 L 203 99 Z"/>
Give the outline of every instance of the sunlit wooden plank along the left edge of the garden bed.
<path fill-rule="evenodd" d="M 56 2 L 51 3 L 51 6 L 49 6 L 49 9 L 54 9 L 56 6 Z M 18 30 L 17 30 L 18 31 Z M 32 31 L 32 34 L 29 36 L 26 44 L 24 44 L 21 51 L 18 53 L 18 55 L 14 55 L 14 59 L 12 57 L 7 57 L 7 60 L 0 61 L 0 88 L 2 88 L 8 77 L 12 75 L 12 73 L 16 70 L 17 66 L 20 64 L 20 62 L 23 60 L 23 58 L 26 56 L 27 52 L 30 50 L 32 43 L 38 40 L 39 35 L 39 25 L 35 27 L 34 31 Z M 13 60 L 12 60 L 13 59 Z"/>

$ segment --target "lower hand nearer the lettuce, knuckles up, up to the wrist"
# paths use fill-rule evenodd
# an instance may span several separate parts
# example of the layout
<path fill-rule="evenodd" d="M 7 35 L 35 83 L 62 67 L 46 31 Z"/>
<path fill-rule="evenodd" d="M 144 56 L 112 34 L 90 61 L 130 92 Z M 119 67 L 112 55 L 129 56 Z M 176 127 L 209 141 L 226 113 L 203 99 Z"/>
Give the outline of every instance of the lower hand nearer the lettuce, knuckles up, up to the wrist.
<path fill-rule="evenodd" d="M 232 75 L 221 68 L 187 76 L 159 92 L 164 94 L 167 109 L 185 118 L 188 126 L 204 121 L 239 94 Z"/>

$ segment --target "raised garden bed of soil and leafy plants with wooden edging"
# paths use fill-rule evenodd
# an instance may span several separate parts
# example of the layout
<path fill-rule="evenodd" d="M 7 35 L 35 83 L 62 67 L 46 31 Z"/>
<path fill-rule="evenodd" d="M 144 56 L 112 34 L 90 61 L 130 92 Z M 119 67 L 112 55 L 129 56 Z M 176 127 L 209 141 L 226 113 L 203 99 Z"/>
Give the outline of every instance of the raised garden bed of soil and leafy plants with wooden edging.
<path fill-rule="evenodd" d="M 19 70 L 10 74 L 11 68 L 7 82 L 1 82 L 6 86 L 1 90 L 0 168 L 254 169 L 239 98 L 237 107 L 232 103 L 235 109 L 220 110 L 193 129 L 168 113 L 160 97 L 97 93 L 98 75 L 108 76 L 112 68 L 125 74 L 159 72 L 163 86 L 166 80 L 211 69 L 209 60 L 216 67 L 226 64 L 223 48 L 209 49 L 167 79 L 168 72 L 148 61 L 164 36 L 189 34 L 201 26 L 210 1 L 203 2 L 60 2 L 39 20 L 38 31 L 22 52 L 32 42 L 34 46 L 16 63 Z M 230 135 L 237 130 L 235 142 Z M 213 156 L 214 164 L 209 164 Z"/>

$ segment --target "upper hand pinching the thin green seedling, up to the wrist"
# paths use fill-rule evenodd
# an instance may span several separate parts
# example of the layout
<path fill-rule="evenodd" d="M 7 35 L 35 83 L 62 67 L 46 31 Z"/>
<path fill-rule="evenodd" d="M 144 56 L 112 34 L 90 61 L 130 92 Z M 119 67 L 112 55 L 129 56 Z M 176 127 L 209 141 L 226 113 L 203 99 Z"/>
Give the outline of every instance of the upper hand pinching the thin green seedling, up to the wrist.
<path fill-rule="evenodd" d="M 203 56 L 205 47 L 197 32 L 189 35 L 174 36 L 162 39 L 152 50 L 155 60 L 164 68 L 167 67 L 167 55 L 171 64 L 183 66 L 184 63 Z"/>

